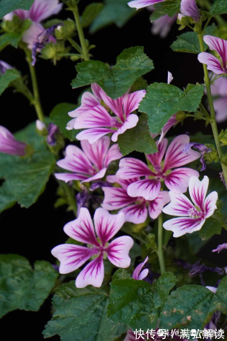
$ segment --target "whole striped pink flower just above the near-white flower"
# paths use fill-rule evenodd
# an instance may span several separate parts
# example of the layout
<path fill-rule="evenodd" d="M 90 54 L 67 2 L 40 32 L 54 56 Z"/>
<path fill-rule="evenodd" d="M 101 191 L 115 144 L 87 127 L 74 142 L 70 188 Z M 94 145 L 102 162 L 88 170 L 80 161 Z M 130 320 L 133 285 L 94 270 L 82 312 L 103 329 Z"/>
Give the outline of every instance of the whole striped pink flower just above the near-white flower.
<path fill-rule="evenodd" d="M 188 154 L 182 152 L 185 144 L 189 143 L 188 135 L 179 135 L 173 139 L 169 147 L 168 140 L 163 138 L 158 145 L 158 152 L 146 155 L 150 166 L 143 161 L 134 158 L 124 158 L 119 162 L 119 170 L 116 176 L 119 179 L 132 179 L 145 176 L 142 180 L 131 183 L 127 188 L 127 193 L 132 197 L 143 197 L 146 200 L 155 199 L 160 193 L 161 181 L 164 180 L 166 187 L 174 193 L 187 191 L 189 178 L 199 176 L 199 173 L 191 168 L 172 168 L 180 167 L 192 162 L 200 157 L 200 153 L 190 150 Z M 165 154 L 164 164 L 162 158 Z"/>

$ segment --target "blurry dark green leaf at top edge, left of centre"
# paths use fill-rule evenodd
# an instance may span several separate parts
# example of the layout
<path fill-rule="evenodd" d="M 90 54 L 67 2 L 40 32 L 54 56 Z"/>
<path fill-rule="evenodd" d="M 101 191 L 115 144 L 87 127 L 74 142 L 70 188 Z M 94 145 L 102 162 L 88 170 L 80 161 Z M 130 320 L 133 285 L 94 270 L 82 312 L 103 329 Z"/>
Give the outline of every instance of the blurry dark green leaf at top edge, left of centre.
<path fill-rule="evenodd" d="M 90 32 L 95 33 L 100 28 L 110 24 L 123 27 L 127 21 L 136 13 L 127 5 L 128 0 L 106 0 L 104 8 L 93 21 Z"/>

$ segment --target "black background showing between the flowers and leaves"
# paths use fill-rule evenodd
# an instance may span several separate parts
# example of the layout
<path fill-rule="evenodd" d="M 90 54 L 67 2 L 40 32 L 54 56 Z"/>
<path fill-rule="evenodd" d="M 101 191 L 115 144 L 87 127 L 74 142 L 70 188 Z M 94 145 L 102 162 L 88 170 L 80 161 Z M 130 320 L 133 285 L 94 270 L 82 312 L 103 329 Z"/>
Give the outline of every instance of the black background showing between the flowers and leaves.
<path fill-rule="evenodd" d="M 79 4 L 80 13 L 91 2 L 98 1 L 81 1 Z M 94 35 L 89 35 L 88 30 L 85 30 L 85 37 L 91 44 L 96 45 L 96 48 L 91 50 L 93 58 L 115 64 L 116 57 L 124 48 L 140 45 L 144 46 L 145 53 L 153 60 L 155 65 L 155 70 L 145 76 L 149 84 L 154 81 L 166 83 L 167 71 L 172 72 L 174 76 L 172 84 L 180 88 L 187 86 L 188 83 L 196 83 L 196 81 L 202 83 L 203 70 L 202 65 L 197 61 L 197 55 L 174 53 L 169 47 L 176 40 L 176 35 L 179 34 L 177 25 L 173 25 L 167 38 L 160 39 L 158 36 L 151 34 L 149 16 L 150 12 L 144 9 L 131 18 L 121 29 L 111 25 Z M 57 17 L 62 19 L 72 18 L 71 12 L 65 10 Z M 22 51 L 7 47 L 1 51 L 0 59 L 21 70 L 23 75 L 29 73 Z M 58 103 L 77 103 L 77 97 L 81 89 L 73 90 L 70 86 L 71 80 L 76 76 L 74 62 L 64 59 L 54 66 L 50 61 L 38 59 L 36 70 L 40 98 L 46 116 Z M 36 120 L 34 108 L 21 94 L 12 94 L 12 89 L 7 89 L 2 94 L 0 108 L 0 124 L 13 133 L 24 128 L 29 122 Z M 185 133 L 186 131 L 193 134 L 198 130 L 202 130 L 206 134 L 211 133 L 210 129 L 205 129 L 203 122 L 196 121 L 195 123 L 187 119 L 182 127 L 177 126 L 174 134 Z M 224 128 L 223 124 L 220 128 Z M 45 192 L 28 210 L 15 205 L 1 214 L 1 253 L 20 254 L 27 257 L 32 264 L 35 260 L 55 262 L 50 250 L 67 239 L 63 232 L 63 226 L 74 219 L 73 213 L 66 212 L 65 207 L 53 208 L 56 200 L 55 191 L 56 182 L 51 177 Z M 13 229 L 9 228 L 11 226 L 13 226 Z M 216 246 L 217 242 L 224 242 L 223 238 L 223 236 L 218 237 L 218 240 L 215 240 L 212 245 Z M 208 250 L 209 258 L 211 256 L 210 244 Z M 206 251 L 203 256 L 206 257 Z M 217 254 L 212 254 L 212 256 L 214 264 L 226 265 L 222 263 L 221 258 L 223 257 Z M 48 298 L 39 312 L 17 310 L 6 314 L 0 321 L 1 333 L 3 334 L 5 331 L 7 340 L 15 337 L 24 341 L 43 340 L 42 330 L 50 318 L 50 298 Z M 56 336 L 51 340 L 60 340 L 60 338 Z"/>

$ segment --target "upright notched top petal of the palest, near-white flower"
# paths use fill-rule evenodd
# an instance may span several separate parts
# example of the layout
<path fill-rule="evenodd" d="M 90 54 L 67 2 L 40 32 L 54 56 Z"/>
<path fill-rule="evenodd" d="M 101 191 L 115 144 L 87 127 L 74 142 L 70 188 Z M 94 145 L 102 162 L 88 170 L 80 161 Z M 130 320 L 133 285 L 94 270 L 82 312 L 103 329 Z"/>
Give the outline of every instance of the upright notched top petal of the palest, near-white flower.
<path fill-rule="evenodd" d="M 207 194 L 209 185 L 209 178 L 205 175 L 204 178 L 199 181 L 195 176 L 189 180 L 189 194 L 193 203 L 204 211 L 204 201 Z"/>

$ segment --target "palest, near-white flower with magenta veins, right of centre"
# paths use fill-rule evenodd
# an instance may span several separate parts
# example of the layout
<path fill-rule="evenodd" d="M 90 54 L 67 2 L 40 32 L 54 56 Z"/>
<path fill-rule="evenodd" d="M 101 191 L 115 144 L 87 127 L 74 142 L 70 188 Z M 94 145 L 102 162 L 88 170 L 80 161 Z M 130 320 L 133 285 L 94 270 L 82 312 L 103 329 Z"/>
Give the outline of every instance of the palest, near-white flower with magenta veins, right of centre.
<path fill-rule="evenodd" d="M 164 222 L 166 230 L 173 231 L 174 237 L 200 230 L 205 220 L 212 216 L 217 208 L 217 192 L 211 192 L 207 197 L 209 179 L 205 176 L 201 181 L 195 176 L 189 180 L 189 193 L 195 205 L 184 194 L 169 192 L 171 202 L 163 208 L 163 212 L 178 216 Z"/>

